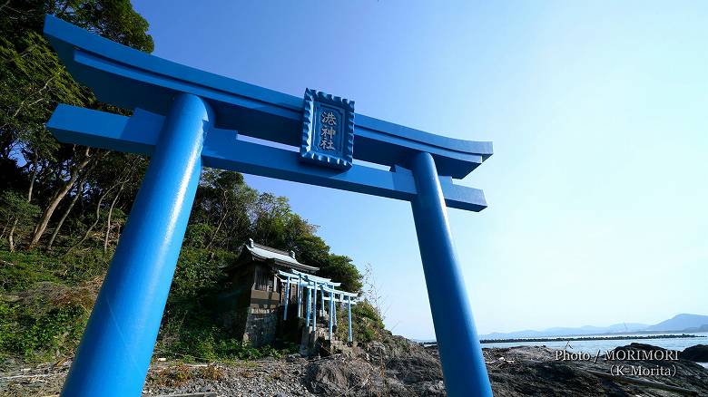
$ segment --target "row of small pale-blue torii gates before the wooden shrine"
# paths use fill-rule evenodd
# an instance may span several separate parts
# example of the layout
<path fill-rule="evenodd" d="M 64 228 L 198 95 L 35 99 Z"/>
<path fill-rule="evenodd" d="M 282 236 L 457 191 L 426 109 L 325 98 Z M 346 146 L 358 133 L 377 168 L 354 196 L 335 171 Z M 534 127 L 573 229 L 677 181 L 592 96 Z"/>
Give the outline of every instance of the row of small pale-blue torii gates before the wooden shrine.
<path fill-rule="evenodd" d="M 329 317 L 329 340 L 332 340 L 333 325 L 337 325 L 337 304 L 347 305 L 347 316 L 349 318 L 349 342 L 352 342 L 351 334 L 351 305 L 356 303 L 357 294 L 335 289 L 341 286 L 341 283 L 335 283 L 329 278 L 308 275 L 307 273 L 299 272 L 295 269 L 289 272 L 282 270 L 278 271 L 280 281 L 285 284 L 285 303 L 283 320 L 288 319 L 288 301 L 290 301 L 290 285 L 297 288 L 297 305 L 296 314 L 302 314 L 303 295 L 307 296 L 305 309 L 305 326 L 311 326 L 312 329 L 317 328 L 317 292 L 320 291 L 320 308 L 322 313 L 325 312 L 325 301 L 328 302 L 327 315 Z"/>

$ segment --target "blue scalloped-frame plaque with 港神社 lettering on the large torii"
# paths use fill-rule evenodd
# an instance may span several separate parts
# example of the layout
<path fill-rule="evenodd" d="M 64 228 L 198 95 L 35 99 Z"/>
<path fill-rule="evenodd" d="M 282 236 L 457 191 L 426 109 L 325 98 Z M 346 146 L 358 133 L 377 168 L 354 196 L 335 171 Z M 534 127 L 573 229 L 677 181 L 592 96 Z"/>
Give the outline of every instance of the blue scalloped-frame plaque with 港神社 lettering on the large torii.
<path fill-rule="evenodd" d="M 349 169 L 354 156 L 354 101 L 305 90 L 300 160 Z"/>

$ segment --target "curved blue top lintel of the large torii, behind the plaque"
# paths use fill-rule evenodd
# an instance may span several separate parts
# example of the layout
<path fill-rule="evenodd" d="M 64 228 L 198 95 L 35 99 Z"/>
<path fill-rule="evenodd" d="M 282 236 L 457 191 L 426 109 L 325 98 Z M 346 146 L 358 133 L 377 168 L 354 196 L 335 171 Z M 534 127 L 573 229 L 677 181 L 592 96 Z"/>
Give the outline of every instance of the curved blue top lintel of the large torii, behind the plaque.
<path fill-rule="evenodd" d="M 214 127 L 300 146 L 302 98 L 276 92 L 143 53 L 86 32 L 52 15 L 44 35 L 74 78 L 97 97 L 126 109 L 166 115 L 178 92 L 209 100 Z M 290 133 L 291 132 L 291 133 Z M 439 175 L 464 178 L 492 154 L 491 142 L 457 140 L 356 115 L 354 157 L 388 166 L 427 151 Z"/>

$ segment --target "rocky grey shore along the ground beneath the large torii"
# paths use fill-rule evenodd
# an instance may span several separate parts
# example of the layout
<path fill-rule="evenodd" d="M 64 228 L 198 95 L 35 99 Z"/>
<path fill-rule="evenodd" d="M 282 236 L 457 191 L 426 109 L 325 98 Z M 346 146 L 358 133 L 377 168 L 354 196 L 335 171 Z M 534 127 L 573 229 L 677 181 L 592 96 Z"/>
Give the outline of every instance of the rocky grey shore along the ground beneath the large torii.
<path fill-rule="evenodd" d="M 648 344 L 618 349 L 654 350 Z M 684 357 L 703 360 L 708 346 L 690 348 Z M 688 349 L 687 349 L 688 350 Z M 671 396 L 708 395 L 708 369 L 679 357 L 675 361 L 609 362 L 559 360 L 541 346 L 485 349 L 487 370 L 497 396 Z M 708 360 L 705 360 L 708 361 Z M 70 361 L 11 368 L 0 374 L 2 396 L 55 396 Z M 613 365 L 624 365 L 620 376 Z M 631 368 L 655 374 L 632 374 Z M 664 369 L 668 374 L 661 374 Z M 201 393 L 205 396 L 445 395 L 436 350 L 399 336 L 364 348 L 317 359 L 293 354 L 280 359 L 193 364 L 156 361 L 143 395 Z"/>

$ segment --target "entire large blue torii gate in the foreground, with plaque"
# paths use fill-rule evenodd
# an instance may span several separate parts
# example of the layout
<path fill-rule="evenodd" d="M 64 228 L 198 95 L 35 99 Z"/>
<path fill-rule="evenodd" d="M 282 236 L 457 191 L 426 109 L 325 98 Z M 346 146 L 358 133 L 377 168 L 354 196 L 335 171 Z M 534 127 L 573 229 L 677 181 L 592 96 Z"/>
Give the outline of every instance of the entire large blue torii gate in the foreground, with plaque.
<path fill-rule="evenodd" d="M 203 166 L 410 201 L 447 393 L 491 395 L 446 208 L 487 207 L 481 190 L 453 179 L 487 160 L 490 142 L 355 115 L 354 102 L 322 92 L 303 100 L 205 73 L 51 15 L 44 35 L 76 81 L 133 110 L 60 104 L 47 122 L 54 136 L 151 156 L 62 395 L 141 394 Z"/>

